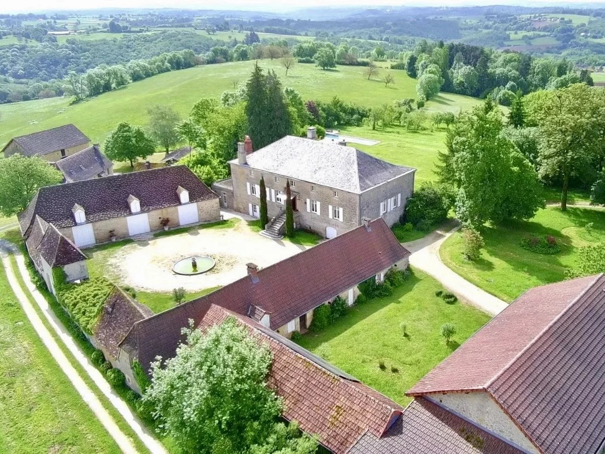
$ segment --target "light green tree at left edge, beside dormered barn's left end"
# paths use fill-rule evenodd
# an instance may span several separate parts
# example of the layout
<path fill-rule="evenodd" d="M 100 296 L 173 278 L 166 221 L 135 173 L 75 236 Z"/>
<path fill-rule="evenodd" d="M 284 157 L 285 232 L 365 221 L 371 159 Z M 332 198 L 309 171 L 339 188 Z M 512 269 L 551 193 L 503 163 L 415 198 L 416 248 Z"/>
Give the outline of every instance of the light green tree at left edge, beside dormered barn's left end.
<path fill-rule="evenodd" d="M 0 212 L 9 217 L 27 208 L 42 186 L 60 183 L 63 174 L 38 156 L 13 154 L 0 159 Z"/>

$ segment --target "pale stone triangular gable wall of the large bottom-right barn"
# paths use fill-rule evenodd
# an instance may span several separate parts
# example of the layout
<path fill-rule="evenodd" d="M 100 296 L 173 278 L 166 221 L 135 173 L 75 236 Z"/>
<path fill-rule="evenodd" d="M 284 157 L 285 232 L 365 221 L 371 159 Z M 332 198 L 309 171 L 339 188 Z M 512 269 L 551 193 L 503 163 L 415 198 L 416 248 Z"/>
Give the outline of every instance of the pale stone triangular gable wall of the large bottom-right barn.
<path fill-rule="evenodd" d="M 513 442 L 518 447 L 531 453 L 538 453 L 535 446 L 523 435 L 523 432 L 512 422 L 505 412 L 486 392 L 444 393 L 429 396 L 436 404 L 452 410 L 495 433 L 500 438 Z"/>

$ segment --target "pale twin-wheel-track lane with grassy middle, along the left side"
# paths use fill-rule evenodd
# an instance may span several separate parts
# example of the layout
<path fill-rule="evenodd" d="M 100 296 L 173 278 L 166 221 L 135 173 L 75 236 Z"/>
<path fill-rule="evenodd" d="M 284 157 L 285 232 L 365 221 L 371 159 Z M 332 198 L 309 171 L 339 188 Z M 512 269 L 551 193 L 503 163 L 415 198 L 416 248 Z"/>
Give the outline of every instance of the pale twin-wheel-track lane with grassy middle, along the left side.
<path fill-rule="evenodd" d="M 88 358 L 80 351 L 74 342 L 71 335 L 65 329 L 62 323 L 56 318 L 53 310 L 48 306 L 47 301 L 42 296 L 42 294 L 36 289 L 33 282 L 30 279 L 30 275 L 25 268 L 25 260 L 23 255 L 15 252 L 14 246 L 11 246 L 10 243 L 2 242 L 0 244 L 0 252 L 2 253 L 2 265 L 7 274 L 8 281 L 10 283 L 13 292 L 15 292 L 16 297 L 19 300 L 22 308 L 24 309 L 25 314 L 27 314 L 28 319 L 33 325 L 34 329 L 38 333 L 41 340 L 44 342 L 44 345 L 47 347 L 48 351 L 53 355 L 53 358 L 57 361 L 62 370 L 64 370 L 67 377 L 70 379 L 73 386 L 76 388 L 77 392 L 82 396 L 82 399 L 88 404 L 88 406 L 93 410 L 94 414 L 97 416 L 99 421 L 103 424 L 105 429 L 110 433 L 110 435 L 116 440 L 120 449 L 122 449 L 125 453 L 136 453 L 137 450 L 132 445 L 128 436 L 119 429 L 116 425 L 114 419 L 111 415 L 105 410 L 103 404 L 100 403 L 97 396 L 94 394 L 93 390 L 88 387 L 85 381 L 82 380 L 79 373 L 74 369 L 71 365 L 68 358 L 65 356 L 64 352 L 60 349 L 59 344 L 54 340 L 53 336 L 48 331 L 47 327 L 42 323 L 41 318 L 38 316 L 38 313 L 34 310 L 32 304 L 26 297 L 25 293 L 22 291 L 19 286 L 18 281 L 16 280 L 15 273 L 13 271 L 13 267 L 11 266 L 10 260 L 8 258 L 7 252 L 15 253 L 15 258 L 17 261 L 18 271 L 23 278 L 25 286 L 27 287 L 28 292 L 31 297 L 34 298 L 42 313 L 45 315 L 50 326 L 53 327 L 56 334 L 61 338 L 64 342 L 65 346 L 70 350 L 70 353 L 73 357 L 78 361 L 80 366 L 88 373 L 91 380 L 94 381 L 94 384 L 101 390 L 101 392 L 105 395 L 105 397 L 110 401 L 110 403 L 116 407 L 116 410 L 122 415 L 126 423 L 131 427 L 131 429 L 139 436 L 143 444 L 149 449 L 151 453 L 159 453 L 165 454 L 166 450 L 160 444 L 151 433 L 146 430 L 142 423 L 140 423 L 139 419 L 131 412 L 128 405 L 113 392 L 111 386 L 103 375 L 97 370 L 93 364 L 88 361 Z"/>

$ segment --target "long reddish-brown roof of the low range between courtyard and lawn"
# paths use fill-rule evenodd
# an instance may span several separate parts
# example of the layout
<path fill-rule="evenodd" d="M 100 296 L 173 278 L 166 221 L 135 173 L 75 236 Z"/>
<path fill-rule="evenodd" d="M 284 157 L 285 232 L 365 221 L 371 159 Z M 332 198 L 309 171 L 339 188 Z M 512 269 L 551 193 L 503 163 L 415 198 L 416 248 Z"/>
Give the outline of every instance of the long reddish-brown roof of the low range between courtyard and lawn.
<path fill-rule="evenodd" d="M 188 326 L 189 319 L 200 323 L 210 304 L 241 315 L 257 306 L 255 311 L 269 312 L 270 328 L 278 329 L 410 254 L 381 218 L 372 221 L 370 228 L 360 226 L 260 269 L 257 283 L 247 275 L 136 323 L 125 341 L 129 353 L 143 366 L 157 355 L 174 356 L 183 340 L 181 328 Z"/>

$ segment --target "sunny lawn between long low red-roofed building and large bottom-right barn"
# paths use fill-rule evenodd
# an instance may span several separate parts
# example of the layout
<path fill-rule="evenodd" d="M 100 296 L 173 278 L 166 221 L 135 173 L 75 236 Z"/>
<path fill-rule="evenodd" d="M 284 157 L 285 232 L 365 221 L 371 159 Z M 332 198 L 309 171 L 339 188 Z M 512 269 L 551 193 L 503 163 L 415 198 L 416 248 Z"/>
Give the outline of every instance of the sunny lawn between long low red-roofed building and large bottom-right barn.
<path fill-rule="evenodd" d="M 440 289 L 436 280 L 414 271 L 391 297 L 353 306 L 344 318 L 319 334 L 304 335 L 299 344 L 405 405 L 410 401 L 405 392 L 490 318 L 465 304 L 446 304 L 435 296 Z M 440 334 L 447 322 L 458 331 L 449 345 Z"/>

